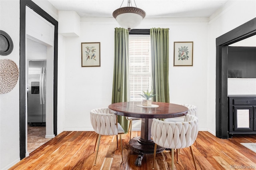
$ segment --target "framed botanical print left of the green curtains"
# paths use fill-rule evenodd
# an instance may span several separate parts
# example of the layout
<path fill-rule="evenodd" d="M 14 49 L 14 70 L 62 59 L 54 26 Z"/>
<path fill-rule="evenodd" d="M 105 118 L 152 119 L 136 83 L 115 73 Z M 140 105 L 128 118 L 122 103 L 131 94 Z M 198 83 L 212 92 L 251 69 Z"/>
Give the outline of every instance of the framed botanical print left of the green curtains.
<path fill-rule="evenodd" d="M 82 42 L 82 67 L 100 66 L 100 42 Z"/>

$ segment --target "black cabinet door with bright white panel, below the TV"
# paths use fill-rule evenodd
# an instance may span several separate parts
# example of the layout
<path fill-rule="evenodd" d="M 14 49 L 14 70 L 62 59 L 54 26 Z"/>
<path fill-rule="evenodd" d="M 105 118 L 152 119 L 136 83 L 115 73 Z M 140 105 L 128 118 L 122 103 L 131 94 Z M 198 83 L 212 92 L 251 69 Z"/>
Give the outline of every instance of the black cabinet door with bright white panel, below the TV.
<path fill-rule="evenodd" d="M 234 106 L 234 130 L 253 130 L 252 106 Z"/>

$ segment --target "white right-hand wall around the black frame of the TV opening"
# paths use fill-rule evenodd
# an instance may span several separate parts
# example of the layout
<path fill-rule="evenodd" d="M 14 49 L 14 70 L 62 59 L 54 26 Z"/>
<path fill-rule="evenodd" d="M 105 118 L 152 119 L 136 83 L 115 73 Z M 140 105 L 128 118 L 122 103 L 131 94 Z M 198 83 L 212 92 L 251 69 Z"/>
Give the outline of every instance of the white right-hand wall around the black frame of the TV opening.
<path fill-rule="evenodd" d="M 229 1 L 210 17 L 207 62 L 207 128 L 216 133 L 216 38 L 256 17 L 256 1 Z"/>

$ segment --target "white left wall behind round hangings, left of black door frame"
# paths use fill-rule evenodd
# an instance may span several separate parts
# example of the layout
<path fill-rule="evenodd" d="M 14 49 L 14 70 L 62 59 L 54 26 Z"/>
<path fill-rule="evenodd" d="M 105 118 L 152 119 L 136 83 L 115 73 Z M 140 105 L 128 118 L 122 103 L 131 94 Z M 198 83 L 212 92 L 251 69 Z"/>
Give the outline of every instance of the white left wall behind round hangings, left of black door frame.
<path fill-rule="evenodd" d="M 20 1 L 0 1 L 0 30 L 12 38 L 12 53 L 0 59 L 12 59 L 20 66 Z M 0 169 L 20 160 L 20 80 L 12 91 L 0 95 Z"/>

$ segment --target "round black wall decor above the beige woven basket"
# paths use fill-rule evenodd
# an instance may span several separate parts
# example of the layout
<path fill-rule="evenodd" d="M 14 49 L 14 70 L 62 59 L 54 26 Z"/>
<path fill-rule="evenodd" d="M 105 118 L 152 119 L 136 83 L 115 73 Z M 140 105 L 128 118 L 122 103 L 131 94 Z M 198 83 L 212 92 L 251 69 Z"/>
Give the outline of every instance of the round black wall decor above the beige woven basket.
<path fill-rule="evenodd" d="M 9 55 L 12 49 L 12 39 L 6 32 L 0 30 L 0 55 Z"/>

